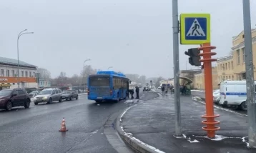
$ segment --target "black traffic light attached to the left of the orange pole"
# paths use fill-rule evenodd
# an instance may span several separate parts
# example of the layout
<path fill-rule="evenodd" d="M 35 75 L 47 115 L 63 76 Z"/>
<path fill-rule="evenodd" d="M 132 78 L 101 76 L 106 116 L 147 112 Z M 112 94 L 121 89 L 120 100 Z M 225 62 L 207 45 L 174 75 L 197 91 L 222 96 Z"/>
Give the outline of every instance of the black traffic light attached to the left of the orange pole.
<path fill-rule="evenodd" d="M 201 66 L 201 62 L 199 61 L 201 58 L 198 54 L 200 54 L 200 50 L 197 48 L 188 49 L 185 51 L 185 55 L 189 56 L 189 64 L 194 66 Z"/>

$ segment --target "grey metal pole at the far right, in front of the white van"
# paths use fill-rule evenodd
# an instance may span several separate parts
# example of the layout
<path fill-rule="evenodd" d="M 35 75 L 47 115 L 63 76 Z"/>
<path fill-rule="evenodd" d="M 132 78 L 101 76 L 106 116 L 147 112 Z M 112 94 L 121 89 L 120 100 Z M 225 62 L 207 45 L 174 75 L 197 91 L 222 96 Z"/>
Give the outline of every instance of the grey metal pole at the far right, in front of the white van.
<path fill-rule="evenodd" d="M 244 34 L 245 34 L 245 70 L 247 89 L 248 139 L 249 146 L 256 147 L 256 104 L 255 83 L 252 61 L 252 31 L 250 16 L 250 1 L 243 0 Z"/>

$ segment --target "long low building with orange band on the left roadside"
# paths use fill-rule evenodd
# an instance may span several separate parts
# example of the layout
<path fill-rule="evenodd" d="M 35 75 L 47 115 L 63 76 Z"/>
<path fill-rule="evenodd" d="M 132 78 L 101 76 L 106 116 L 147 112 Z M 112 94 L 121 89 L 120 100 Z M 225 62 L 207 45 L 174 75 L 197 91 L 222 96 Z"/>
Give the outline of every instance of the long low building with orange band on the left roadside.
<path fill-rule="evenodd" d="M 19 79 L 18 79 L 18 61 L 0 57 L 0 89 L 13 89 L 18 87 L 20 82 L 21 88 L 37 87 L 36 73 L 37 67 L 19 61 Z"/>

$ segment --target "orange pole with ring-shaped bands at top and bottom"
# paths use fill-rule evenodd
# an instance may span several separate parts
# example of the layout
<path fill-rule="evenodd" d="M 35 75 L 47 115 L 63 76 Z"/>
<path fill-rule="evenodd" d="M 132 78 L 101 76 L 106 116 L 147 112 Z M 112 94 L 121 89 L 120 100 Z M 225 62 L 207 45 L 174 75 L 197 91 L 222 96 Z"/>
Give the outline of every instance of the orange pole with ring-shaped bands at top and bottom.
<path fill-rule="evenodd" d="M 203 59 L 200 59 L 204 63 L 205 71 L 205 105 L 206 105 L 206 114 L 202 115 L 202 118 L 205 118 L 205 121 L 202 121 L 202 124 L 205 124 L 205 127 L 202 127 L 203 130 L 207 131 L 207 136 L 209 138 L 215 138 L 215 131 L 219 130 L 220 127 L 215 127 L 215 124 L 220 124 L 220 121 L 215 121 L 215 117 L 220 117 L 219 114 L 214 113 L 213 99 L 212 99 L 212 61 L 217 61 L 217 59 L 211 59 L 212 55 L 215 55 L 215 52 L 211 52 L 211 49 L 215 49 L 215 46 L 211 46 L 210 43 L 203 44 L 199 49 L 203 52 L 199 54 L 203 56 Z"/>

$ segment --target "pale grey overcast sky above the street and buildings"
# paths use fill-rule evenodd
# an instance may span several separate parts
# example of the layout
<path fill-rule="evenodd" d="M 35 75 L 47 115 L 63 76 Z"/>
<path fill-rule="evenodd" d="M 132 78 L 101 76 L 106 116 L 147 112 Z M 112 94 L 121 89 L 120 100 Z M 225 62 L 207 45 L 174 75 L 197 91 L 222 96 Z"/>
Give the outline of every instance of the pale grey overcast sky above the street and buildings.
<path fill-rule="evenodd" d="M 252 28 L 256 1 L 250 0 Z M 210 13 L 212 45 L 228 54 L 232 36 L 243 30 L 242 0 L 179 0 L 180 13 Z M 97 69 L 173 76 L 172 0 L 8 0 L 0 3 L 1 56 L 20 60 L 58 76 L 80 74 L 85 59 Z M 186 69 L 188 45 L 179 46 Z M 195 69 L 187 62 L 187 69 Z"/>

